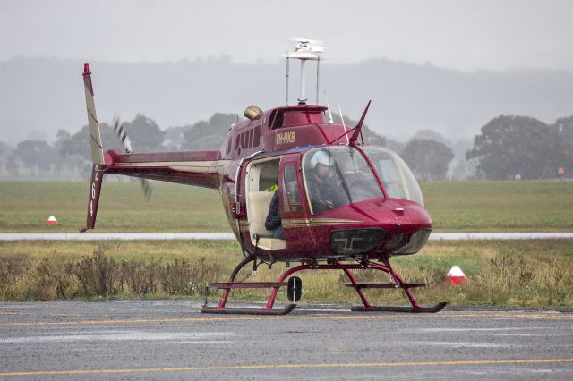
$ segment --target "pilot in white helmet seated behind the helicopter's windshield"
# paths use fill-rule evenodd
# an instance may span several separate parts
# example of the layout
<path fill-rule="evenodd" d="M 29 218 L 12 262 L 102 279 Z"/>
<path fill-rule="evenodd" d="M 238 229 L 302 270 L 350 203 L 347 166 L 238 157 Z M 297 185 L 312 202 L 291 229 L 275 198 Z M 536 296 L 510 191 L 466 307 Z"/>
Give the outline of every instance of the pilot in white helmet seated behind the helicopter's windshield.
<path fill-rule="evenodd" d="M 306 176 L 306 184 L 312 212 L 319 213 L 342 205 L 336 191 L 339 187 L 334 185 L 334 179 L 330 176 L 334 159 L 326 152 L 318 151 L 312 156 L 310 165 L 312 170 Z"/>

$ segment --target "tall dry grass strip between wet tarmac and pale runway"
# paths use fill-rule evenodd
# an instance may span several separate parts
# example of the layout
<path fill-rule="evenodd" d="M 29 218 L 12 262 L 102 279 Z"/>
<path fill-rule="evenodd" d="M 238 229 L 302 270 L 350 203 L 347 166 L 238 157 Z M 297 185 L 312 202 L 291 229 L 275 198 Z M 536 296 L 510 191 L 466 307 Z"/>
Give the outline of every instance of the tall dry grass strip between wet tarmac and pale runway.
<path fill-rule="evenodd" d="M 0 300 L 94 297 L 204 296 L 212 281 L 226 281 L 241 259 L 235 241 L 0 242 Z M 398 274 L 422 303 L 453 305 L 573 306 L 573 241 L 431 241 L 415 256 L 394 258 Z M 458 265 L 468 282 L 444 284 Z M 242 280 L 252 267 L 239 273 Z M 249 281 L 275 281 L 286 267 L 261 266 Z M 387 281 L 379 272 L 355 272 L 359 280 Z M 304 302 L 359 303 L 341 271 L 298 273 Z M 103 281 L 102 281 L 103 279 Z M 282 291 L 284 292 L 284 291 Z M 367 290 L 372 301 L 406 304 L 400 291 Z M 212 292 L 210 301 L 217 301 Z M 233 298 L 265 301 L 269 293 L 234 291 Z M 286 301 L 279 293 L 279 301 Z"/>

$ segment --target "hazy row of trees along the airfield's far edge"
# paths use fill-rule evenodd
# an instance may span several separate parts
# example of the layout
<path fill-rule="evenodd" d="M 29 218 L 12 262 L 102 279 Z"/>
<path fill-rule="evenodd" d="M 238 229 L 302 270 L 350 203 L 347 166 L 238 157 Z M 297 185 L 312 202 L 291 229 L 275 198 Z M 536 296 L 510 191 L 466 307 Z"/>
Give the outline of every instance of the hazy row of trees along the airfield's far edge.
<path fill-rule="evenodd" d="M 334 120 L 340 117 L 333 114 Z M 347 125 L 353 121 L 344 116 Z M 237 114 L 213 114 L 209 120 L 162 130 L 153 119 L 137 114 L 124 127 L 136 152 L 161 150 L 218 149 Z M 113 127 L 100 123 L 105 148 L 120 148 Z M 421 131 L 406 143 L 387 140 L 363 126 L 367 144 L 393 148 L 412 168 L 420 181 L 443 180 L 451 168 L 451 143 L 434 131 Z M 570 177 L 573 172 L 573 116 L 545 124 L 527 116 L 498 116 L 475 136 L 466 160 L 475 166 L 475 177 L 492 180 L 549 179 Z M 88 126 L 70 133 L 60 130 L 56 140 L 23 140 L 12 148 L 0 141 L 0 171 L 28 178 L 38 175 L 70 177 L 89 174 Z"/>

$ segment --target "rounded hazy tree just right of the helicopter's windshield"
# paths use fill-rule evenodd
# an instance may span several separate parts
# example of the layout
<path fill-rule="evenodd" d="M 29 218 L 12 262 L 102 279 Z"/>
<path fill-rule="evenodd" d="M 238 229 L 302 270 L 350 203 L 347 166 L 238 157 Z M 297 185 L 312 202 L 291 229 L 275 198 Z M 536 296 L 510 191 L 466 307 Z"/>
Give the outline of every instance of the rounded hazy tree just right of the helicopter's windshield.
<path fill-rule="evenodd" d="M 423 181 L 443 180 L 454 153 L 439 141 L 414 139 L 406 144 L 402 158 L 412 168 L 416 178 Z"/>

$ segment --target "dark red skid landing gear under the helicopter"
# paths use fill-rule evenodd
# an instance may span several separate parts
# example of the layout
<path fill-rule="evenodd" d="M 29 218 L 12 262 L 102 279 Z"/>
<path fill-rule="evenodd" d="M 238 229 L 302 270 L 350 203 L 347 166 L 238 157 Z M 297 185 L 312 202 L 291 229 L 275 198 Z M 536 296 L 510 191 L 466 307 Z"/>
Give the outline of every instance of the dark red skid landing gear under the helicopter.
<path fill-rule="evenodd" d="M 211 314 L 249 314 L 249 315 L 286 315 L 295 309 L 296 304 L 288 304 L 285 308 L 275 309 L 273 308 L 275 300 L 277 299 L 277 292 L 280 287 L 285 287 L 287 283 L 285 282 L 286 277 L 302 270 L 342 270 L 345 272 L 346 276 L 350 280 L 350 283 L 346 286 L 355 288 L 358 296 L 363 302 L 363 306 L 352 307 L 352 311 L 356 312 L 371 312 L 371 311 L 386 311 L 386 312 L 414 312 L 414 313 L 434 313 L 439 312 L 441 309 L 446 307 L 447 302 L 442 301 L 432 307 L 421 307 L 415 300 L 414 295 L 410 292 L 410 288 L 423 287 L 425 284 L 408 284 L 406 283 L 400 275 L 398 275 L 389 264 L 388 258 L 383 261 L 383 265 L 371 263 L 367 268 L 374 270 L 379 270 L 390 275 L 393 282 L 390 283 L 357 283 L 355 275 L 350 270 L 363 269 L 363 264 L 344 264 L 335 263 L 329 265 L 317 265 L 313 263 L 312 265 L 304 264 L 296 267 L 292 267 L 283 275 L 280 275 L 277 282 L 235 282 L 235 277 L 239 271 L 248 263 L 254 260 L 254 256 L 244 258 L 241 263 L 229 278 L 227 283 L 215 283 L 211 284 L 211 287 L 224 290 L 221 300 L 218 302 L 218 307 L 209 307 L 207 302 L 201 309 L 203 313 Z M 262 308 L 228 308 L 226 307 L 227 298 L 229 292 L 236 288 L 272 288 L 270 292 L 269 300 L 265 307 Z M 388 288 L 388 289 L 401 289 L 406 292 L 406 296 L 410 301 L 411 306 L 408 307 L 391 307 L 391 306 L 372 306 L 371 302 L 363 292 L 364 288 Z"/>

